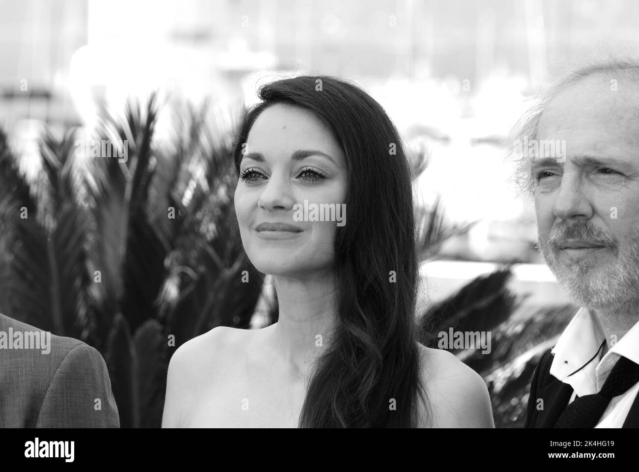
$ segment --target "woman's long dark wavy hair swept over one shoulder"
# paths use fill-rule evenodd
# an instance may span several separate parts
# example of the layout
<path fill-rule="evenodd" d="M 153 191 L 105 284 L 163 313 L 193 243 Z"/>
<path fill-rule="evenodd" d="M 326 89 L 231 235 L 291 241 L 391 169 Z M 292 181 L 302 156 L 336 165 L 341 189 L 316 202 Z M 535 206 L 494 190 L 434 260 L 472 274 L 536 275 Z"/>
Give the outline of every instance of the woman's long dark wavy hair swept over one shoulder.
<path fill-rule="evenodd" d="M 258 96 L 233 146 L 236 172 L 251 126 L 275 103 L 322 119 L 348 169 L 348 222 L 334 240 L 337 323 L 298 426 L 417 427 L 427 413 L 414 317 L 417 247 L 410 165 L 397 128 L 371 96 L 335 77 L 277 80 Z"/>

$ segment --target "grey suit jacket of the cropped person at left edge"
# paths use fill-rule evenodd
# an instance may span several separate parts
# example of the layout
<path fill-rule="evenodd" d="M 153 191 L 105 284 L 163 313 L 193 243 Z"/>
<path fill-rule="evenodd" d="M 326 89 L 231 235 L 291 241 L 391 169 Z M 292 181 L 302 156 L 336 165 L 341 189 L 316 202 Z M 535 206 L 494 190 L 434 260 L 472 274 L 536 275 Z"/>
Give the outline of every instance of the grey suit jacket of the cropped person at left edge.
<path fill-rule="evenodd" d="M 0 331 L 41 331 L 0 314 Z M 96 399 L 101 409 L 96 410 Z M 118 428 L 104 359 L 77 339 L 50 336 L 50 352 L 0 349 L 0 427 Z"/>

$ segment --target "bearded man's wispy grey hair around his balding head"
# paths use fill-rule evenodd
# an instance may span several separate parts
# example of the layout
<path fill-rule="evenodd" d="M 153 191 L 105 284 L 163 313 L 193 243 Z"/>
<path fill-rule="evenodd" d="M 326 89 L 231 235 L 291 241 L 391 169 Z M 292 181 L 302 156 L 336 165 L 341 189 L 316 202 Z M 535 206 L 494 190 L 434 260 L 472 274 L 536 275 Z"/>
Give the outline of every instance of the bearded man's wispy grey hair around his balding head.
<path fill-rule="evenodd" d="M 606 54 L 605 56 L 599 54 L 562 74 L 539 96 L 533 98 L 534 104 L 521 116 L 505 139 L 508 158 L 514 162 L 514 183 L 528 197 L 531 197 L 534 193 L 534 181 L 530 170 L 532 156 L 530 156 L 530 153 L 522 152 L 525 151 L 523 147 L 517 146 L 515 143 L 523 143 L 525 138 L 528 139 L 528 142 L 537 139 L 541 115 L 553 98 L 569 88 L 569 86 L 591 75 L 607 75 L 610 76 L 611 80 L 621 75 L 624 77 L 629 75 L 633 79 L 639 80 L 639 56 L 634 52 L 623 56 L 619 54 Z"/>

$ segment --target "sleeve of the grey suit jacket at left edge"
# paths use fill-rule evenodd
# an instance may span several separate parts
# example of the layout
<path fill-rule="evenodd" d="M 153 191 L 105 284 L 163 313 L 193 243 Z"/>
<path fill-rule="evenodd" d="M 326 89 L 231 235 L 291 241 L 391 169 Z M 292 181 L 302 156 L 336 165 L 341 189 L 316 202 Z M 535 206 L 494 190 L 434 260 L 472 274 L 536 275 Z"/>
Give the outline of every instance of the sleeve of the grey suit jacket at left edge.
<path fill-rule="evenodd" d="M 118 407 L 104 359 L 77 344 L 60 363 L 40 407 L 38 428 L 119 428 Z"/>

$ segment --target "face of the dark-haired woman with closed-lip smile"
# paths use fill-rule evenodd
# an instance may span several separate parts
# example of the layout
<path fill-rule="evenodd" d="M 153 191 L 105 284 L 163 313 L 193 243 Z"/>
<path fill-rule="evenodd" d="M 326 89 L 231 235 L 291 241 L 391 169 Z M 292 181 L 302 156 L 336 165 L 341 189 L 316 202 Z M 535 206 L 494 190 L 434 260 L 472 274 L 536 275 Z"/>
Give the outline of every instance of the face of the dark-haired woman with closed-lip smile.
<path fill-rule="evenodd" d="M 296 278 L 330 271 L 337 222 L 304 215 L 300 206 L 337 208 L 346 187 L 344 153 L 319 118 L 288 104 L 263 110 L 244 144 L 235 190 L 242 243 L 254 266 Z"/>

